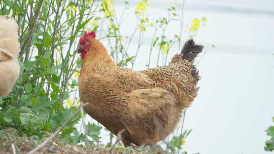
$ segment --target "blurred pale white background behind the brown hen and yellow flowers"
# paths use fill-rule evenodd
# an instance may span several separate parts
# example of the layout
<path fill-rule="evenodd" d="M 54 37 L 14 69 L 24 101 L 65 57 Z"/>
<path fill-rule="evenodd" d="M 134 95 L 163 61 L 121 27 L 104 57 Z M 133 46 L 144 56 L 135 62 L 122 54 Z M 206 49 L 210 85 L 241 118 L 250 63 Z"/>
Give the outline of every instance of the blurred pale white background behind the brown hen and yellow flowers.
<path fill-rule="evenodd" d="M 166 16 L 170 2 L 149 2 L 150 19 Z M 132 17 L 138 1 L 129 3 L 131 14 L 125 15 L 122 35 L 130 32 L 135 22 Z M 116 10 L 123 6 L 117 2 Z M 193 129 L 184 145 L 188 153 L 270 153 L 263 147 L 268 139 L 265 130 L 274 117 L 273 6 L 273 0 L 185 1 L 185 25 L 194 18 L 208 19 L 207 26 L 198 30 L 196 42 L 204 51 L 216 46 L 197 66 L 200 90 L 184 124 L 184 129 Z M 177 26 L 169 26 L 166 35 L 179 33 Z M 144 37 L 151 40 L 149 29 Z M 132 48 L 137 41 L 133 40 Z M 150 42 L 144 43 L 134 70 L 146 68 Z M 156 65 L 156 54 L 152 66 Z"/>

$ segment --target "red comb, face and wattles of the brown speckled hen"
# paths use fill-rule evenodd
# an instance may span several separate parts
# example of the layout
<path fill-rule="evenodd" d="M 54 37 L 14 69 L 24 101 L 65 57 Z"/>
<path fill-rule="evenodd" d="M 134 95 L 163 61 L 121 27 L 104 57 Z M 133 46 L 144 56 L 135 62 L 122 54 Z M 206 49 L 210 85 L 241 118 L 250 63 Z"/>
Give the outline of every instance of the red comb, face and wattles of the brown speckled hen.
<path fill-rule="evenodd" d="M 82 59 L 84 59 L 86 53 L 88 52 L 90 48 L 90 42 L 87 38 L 95 38 L 95 32 L 85 32 L 85 35 L 80 38 L 79 45 L 78 45 L 78 53 L 81 54 Z"/>

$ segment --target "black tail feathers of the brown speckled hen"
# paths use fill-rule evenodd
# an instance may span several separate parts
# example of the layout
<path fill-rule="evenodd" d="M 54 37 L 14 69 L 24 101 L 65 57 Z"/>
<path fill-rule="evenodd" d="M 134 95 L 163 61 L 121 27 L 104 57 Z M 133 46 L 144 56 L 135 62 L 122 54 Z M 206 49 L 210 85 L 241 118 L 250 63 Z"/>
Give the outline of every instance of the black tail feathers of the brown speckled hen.
<path fill-rule="evenodd" d="M 183 59 L 193 63 L 194 58 L 197 57 L 200 52 L 202 52 L 202 48 L 203 46 L 201 45 L 195 45 L 195 42 L 192 39 L 188 40 L 181 52 L 181 54 L 183 54 Z"/>

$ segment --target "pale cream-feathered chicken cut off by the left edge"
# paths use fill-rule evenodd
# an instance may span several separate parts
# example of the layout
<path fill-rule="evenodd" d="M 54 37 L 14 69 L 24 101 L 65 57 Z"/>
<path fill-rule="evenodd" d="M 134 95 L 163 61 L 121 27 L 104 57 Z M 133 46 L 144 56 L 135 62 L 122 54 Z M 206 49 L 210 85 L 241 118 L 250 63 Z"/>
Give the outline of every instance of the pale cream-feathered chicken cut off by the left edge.
<path fill-rule="evenodd" d="M 0 98 L 12 90 L 20 71 L 17 53 L 18 25 L 10 16 L 0 16 Z"/>

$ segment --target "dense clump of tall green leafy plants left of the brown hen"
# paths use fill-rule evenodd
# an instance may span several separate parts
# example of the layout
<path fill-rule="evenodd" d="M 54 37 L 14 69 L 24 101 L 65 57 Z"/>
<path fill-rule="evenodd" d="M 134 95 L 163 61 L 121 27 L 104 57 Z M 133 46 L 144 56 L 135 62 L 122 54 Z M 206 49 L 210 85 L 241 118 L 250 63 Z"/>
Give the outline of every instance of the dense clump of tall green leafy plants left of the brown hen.
<path fill-rule="evenodd" d="M 17 20 L 21 43 L 21 73 L 13 92 L 0 100 L 0 129 L 13 127 L 20 135 L 42 138 L 78 108 L 64 105 L 77 90 L 73 74 L 82 62 L 76 58 L 77 38 L 99 7 L 89 1 L 4 0 L 0 8 L 0 15 L 10 14 Z M 75 128 L 80 118 L 78 114 L 59 137 L 83 141 Z"/>

